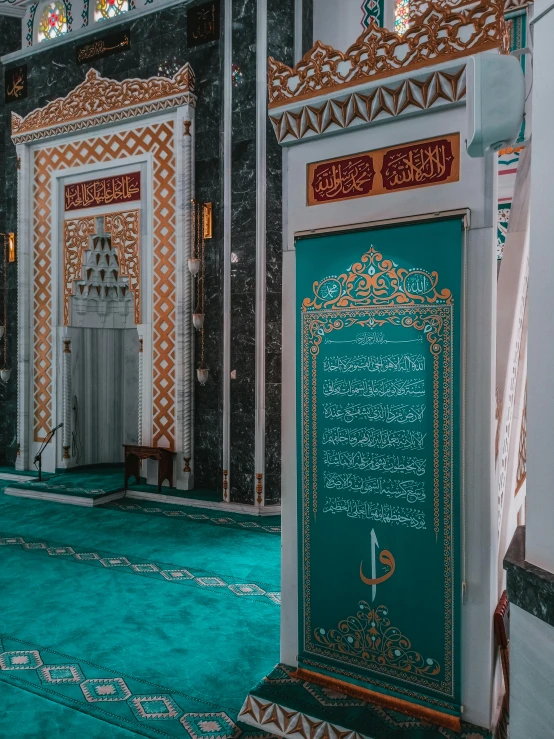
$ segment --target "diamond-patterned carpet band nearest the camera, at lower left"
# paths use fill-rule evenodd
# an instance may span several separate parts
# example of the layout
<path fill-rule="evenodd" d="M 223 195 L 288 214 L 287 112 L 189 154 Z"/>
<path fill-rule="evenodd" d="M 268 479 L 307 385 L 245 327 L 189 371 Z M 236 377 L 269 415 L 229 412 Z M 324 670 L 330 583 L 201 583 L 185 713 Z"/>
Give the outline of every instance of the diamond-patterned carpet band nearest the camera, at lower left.
<path fill-rule="evenodd" d="M 23 688 L 135 734 L 182 739 L 270 739 L 236 709 L 0 635 L 0 682 Z M 107 736 L 108 734 L 106 734 Z"/>

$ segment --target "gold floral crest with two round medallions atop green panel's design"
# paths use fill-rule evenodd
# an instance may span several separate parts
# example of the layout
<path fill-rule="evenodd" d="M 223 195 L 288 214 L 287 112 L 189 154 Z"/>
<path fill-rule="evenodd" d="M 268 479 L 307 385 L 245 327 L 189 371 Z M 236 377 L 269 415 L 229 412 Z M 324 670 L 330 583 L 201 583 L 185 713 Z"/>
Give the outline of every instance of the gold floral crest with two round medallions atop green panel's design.
<path fill-rule="evenodd" d="M 373 246 L 349 272 L 314 282 L 314 298 L 305 298 L 303 311 L 339 310 L 370 305 L 451 305 L 452 293 L 437 290 L 438 272 L 405 269 L 384 259 Z"/>

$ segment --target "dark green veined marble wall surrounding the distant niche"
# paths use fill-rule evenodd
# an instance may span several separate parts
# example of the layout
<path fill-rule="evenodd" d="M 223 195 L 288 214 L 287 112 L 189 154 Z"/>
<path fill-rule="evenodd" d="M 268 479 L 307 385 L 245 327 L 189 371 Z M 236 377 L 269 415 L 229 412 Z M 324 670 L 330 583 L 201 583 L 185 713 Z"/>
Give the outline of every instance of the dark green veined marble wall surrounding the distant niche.
<path fill-rule="evenodd" d="M 194 2 L 192 5 L 200 4 Z M 206 244 L 206 363 L 208 383 L 196 384 L 195 462 L 198 487 L 219 490 L 222 482 L 222 314 L 223 314 L 223 49 L 221 39 L 193 49 L 186 44 L 186 11 L 191 3 L 133 20 L 129 13 L 131 49 L 93 63 L 105 77 L 148 78 L 165 62 L 189 62 L 196 75 L 196 196 L 214 203 L 214 238 Z M 255 293 L 256 293 L 256 0 L 233 1 L 232 112 L 232 359 L 237 379 L 231 381 L 231 500 L 254 499 L 255 431 Z M 304 2 L 303 45 L 312 41 L 312 0 Z M 6 22 L 4 24 L 4 22 Z M 102 29 L 99 29 L 100 31 Z M 11 34 L 11 35 L 10 35 Z M 0 17 L 2 53 L 19 45 L 19 20 Z M 88 37 L 93 40 L 93 37 Z M 294 0 L 268 0 L 268 54 L 293 63 Z M 15 46 L 14 46 L 15 43 Z M 18 60 L 28 65 L 28 97 L 9 106 L 0 102 L 0 196 L 2 229 L 16 229 L 15 147 L 10 139 L 11 111 L 25 115 L 66 95 L 83 81 L 88 65 L 75 63 L 82 39 L 48 48 Z M 3 70 L 2 70 L 3 77 Z M 281 148 L 267 125 L 267 438 L 266 501 L 280 500 L 281 401 Z M 17 286 L 10 267 L 9 321 L 12 325 L 8 363 L 16 366 Z M 0 314 L 1 315 L 1 314 Z M 197 346 L 199 354 L 200 347 Z M 16 380 L 0 386 L 0 464 L 13 464 L 17 451 Z"/>

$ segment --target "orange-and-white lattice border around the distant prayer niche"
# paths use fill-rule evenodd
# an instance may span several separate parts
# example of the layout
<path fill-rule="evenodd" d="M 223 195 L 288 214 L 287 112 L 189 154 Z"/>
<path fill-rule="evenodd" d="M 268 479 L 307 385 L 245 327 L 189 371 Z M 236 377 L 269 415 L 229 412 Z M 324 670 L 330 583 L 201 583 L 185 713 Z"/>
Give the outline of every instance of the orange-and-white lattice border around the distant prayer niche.
<path fill-rule="evenodd" d="M 34 439 L 52 420 L 52 202 L 50 173 L 151 153 L 153 158 L 153 425 L 152 443 L 175 443 L 176 176 L 174 123 L 163 121 L 110 135 L 38 149 L 34 159 L 33 315 Z"/>

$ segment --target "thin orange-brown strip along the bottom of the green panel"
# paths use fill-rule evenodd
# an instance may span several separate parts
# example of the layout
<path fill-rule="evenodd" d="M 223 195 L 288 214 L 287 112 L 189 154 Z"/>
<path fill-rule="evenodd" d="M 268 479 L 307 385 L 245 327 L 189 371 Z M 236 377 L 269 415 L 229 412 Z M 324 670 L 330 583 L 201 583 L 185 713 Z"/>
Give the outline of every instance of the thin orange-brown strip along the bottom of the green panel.
<path fill-rule="evenodd" d="M 324 688 L 331 688 L 339 693 L 345 693 L 354 698 L 375 703 L 377 706 L 382 706 L 383 708 L 392 708 L 394 711 L 420 718 L 422 721 L 428 721 L 430 724 L 435 724 L 436 726 L 443 726 L 445 729 L 450 729 L 451 731 L 461 731 L 460 719 L 449 713 L 441 713 L 440 711 L 435 711 L 433 708 L 419 706 L 417 703 L 410 703 L 401 698 L 376 693 L 374 690 L 362 688 L 359 685 L 352 685 L 352 683 L 347 683 L 344 680 L 338 680 L 334 677 L 328 677 L 327 675 L 320 675 L 317 672 L 311 672 L 311 670 L 305 670 L 301 667 L 293 672 L 291 677 L 296 677 L 299 680 L 307 680 Z"/>

